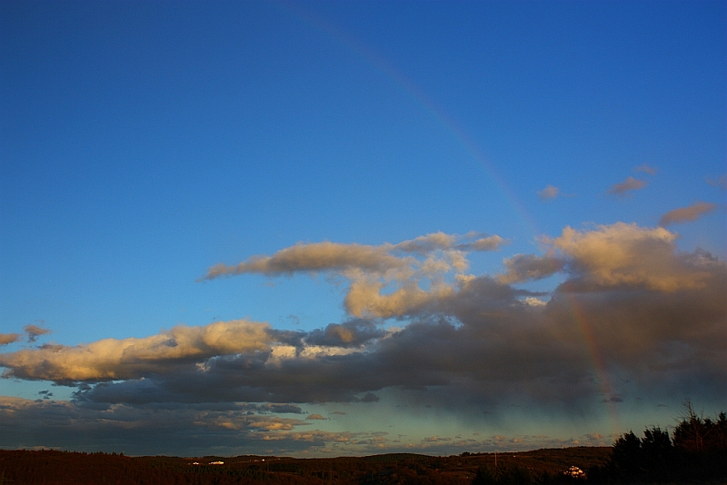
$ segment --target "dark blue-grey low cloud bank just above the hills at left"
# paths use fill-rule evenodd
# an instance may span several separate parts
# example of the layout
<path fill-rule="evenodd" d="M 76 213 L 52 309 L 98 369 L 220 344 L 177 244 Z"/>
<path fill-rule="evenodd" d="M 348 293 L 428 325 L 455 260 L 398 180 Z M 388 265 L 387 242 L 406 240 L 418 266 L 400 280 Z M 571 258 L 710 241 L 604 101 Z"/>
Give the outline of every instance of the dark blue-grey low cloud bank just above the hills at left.
<path fill-rule="evenodd" d="M 351 443 L 364 433 L 310 430 L 311 421 L 256 414 L 245 404 L 204 408 L 151 404 L 89 406 L 74 401 L 29 401 L 0 396 L 3 446 L 59 446 L 65 450 L 124 451 L 134 455 L 202 456 L 315 450 Z M 301 431 L 305 430 L 305 431 Z M 92 435 L 93 440 L 89 440 Z M 363 447 L 359 447 L 363 448 Z"/>

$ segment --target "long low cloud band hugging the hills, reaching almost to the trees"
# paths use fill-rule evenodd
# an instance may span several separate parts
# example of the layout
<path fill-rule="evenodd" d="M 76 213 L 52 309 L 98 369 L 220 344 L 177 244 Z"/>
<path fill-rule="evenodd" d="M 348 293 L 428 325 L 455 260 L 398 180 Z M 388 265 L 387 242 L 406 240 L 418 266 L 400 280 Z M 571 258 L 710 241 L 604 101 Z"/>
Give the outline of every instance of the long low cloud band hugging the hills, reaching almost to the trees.
<path fill-rule="evenodd" d="M 468 433 L 466 436 L 408 437 L 386 431 L 322 431 L 323 416 L 275 416 L 248 404 L 220 406 L 100 406 L 81 401 L 29 401 L 0 397 L 3 444 L 10 448 L 123 450 L 135 455 L 215 454 L 364 455 L 414 451 L 449 455 L 472 450 L 532 450 L 538 446 L 608 444 L 603 435 L 577 439 Z M 334 416 L 345 413 L 334 412 Z"/>

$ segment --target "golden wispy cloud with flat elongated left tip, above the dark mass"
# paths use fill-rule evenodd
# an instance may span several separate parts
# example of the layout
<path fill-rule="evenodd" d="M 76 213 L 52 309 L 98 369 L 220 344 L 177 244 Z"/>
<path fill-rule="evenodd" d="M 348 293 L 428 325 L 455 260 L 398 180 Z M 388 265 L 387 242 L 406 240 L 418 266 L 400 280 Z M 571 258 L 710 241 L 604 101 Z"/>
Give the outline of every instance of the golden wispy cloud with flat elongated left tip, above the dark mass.
<path fill-rule="evenodd" d="M 215 265 L 204 279 L 244 272 L 333 272 L 350 282 L 344 307 L 354 317 L 403 317 L 452 292 L 452 286 L 443 279 L 467 270 L 467 253 L 495 251 L 504 243 L 498 235 L 478 233 L 431 233 L 380 246 L 299 243 L 273 256 L 256 256 L 236 266 Z M 338 332 L 340 338 L 349 338 L 344 328 L 332 327 L 327 332 L 329 337 Z"/>

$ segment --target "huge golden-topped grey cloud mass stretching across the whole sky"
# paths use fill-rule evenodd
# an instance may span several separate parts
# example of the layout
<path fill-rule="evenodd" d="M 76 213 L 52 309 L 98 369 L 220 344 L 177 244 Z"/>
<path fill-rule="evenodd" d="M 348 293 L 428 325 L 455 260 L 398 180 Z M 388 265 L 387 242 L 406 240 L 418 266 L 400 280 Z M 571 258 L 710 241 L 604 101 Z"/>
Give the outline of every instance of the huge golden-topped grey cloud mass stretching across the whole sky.
<path fill-rule="evenodd" d="M 678 252 L 668 230 L 566 228 L 543 239 L 545 255 L 517 255 L 503 273 L 480 276 L 466 273 L 465 256 L 486 239 L 445 236 L 385 253 L 332 245 L 328 260 L 320 252 L 329 246 L 299 244 L 256 260 L 273 264 L 284 254 L 275 264 L 284 260 L 286 270 L 276 272 L 317 267 L 348 279 L 350 319 L 312 332 L 247 320 L 179 325 L 145 338 L 2 353 L 0 365 L 7 378 L 78 385 L 78 402 L 129 406 L 375 403 L 376 392 L 398 389 L 447 409 L 519 402 L 583 411 L 635 392 L 724 395 L 725 265 Z M 369 263 L 372 254 L 378 262 Z M 513 286 L 556 273 L 564 281 L 547 302 Z M 399 328 L 385 329 L 389 318 Z"/>

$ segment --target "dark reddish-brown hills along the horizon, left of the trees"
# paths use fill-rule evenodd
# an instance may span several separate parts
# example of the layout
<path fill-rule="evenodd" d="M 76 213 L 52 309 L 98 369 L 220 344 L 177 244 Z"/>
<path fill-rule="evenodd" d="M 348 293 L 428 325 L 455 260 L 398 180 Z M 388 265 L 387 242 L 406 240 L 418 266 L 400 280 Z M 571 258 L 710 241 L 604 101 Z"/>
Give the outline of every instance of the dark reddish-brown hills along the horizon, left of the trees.
<path fill-rule="evenodd" d="M 571 466 L 603 465 L 610 447 L 433 457 L 389 453 L 294 459 L 271 456 L 127 457 L 115 453 L 0 450 L 0 485 L 467 484 L 482 467 L 527 470 L 536 481 L 562 481 Z M 221 464 L 212 464 L 220 462 Z"/>

